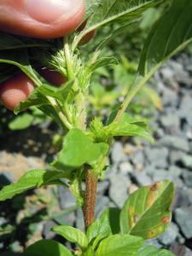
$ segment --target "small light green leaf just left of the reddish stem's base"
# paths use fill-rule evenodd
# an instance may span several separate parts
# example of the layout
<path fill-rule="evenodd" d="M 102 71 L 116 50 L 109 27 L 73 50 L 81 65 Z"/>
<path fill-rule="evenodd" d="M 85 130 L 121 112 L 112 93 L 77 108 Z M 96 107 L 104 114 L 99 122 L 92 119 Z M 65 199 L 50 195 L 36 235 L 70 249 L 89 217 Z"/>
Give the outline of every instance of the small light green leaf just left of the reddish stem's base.
<path fill-rule="evenodd" d="M 67 239 L 67 241 L 76 242 L 81 248 L 88 247 L 87 237 L 81 230 L 75 229 L 67 225 L 57 226 L 53 230 L 55 231 L 55 233 Z"/>

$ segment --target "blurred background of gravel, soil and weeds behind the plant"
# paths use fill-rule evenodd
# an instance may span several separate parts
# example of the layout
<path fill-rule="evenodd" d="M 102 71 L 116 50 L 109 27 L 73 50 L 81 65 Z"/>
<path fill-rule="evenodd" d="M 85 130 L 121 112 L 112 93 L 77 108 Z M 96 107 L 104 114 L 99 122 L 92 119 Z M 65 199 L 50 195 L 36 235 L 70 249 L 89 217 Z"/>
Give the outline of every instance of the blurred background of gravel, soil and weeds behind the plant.
<path fill-rule="evenodd" d="M 139 26 L 114 38 L 103 55 L 115 55 L 119 65 L 100 68 L 94 75 L 88 103 L 89 117 L 107 117 L 121 102 L 137 72 L 138 57 L 148 30 L 163 11 L 148 9 Z M 106 37 L 111 27 L 97 32 Z M 92 39 L 94 40 L 94 39 Z M 90 44 L 82 47 L 84 54 Z M 113 143 L 105 180 L 98 185 L 96 215 L 104 207 L 122 207 L 138 187 L 169 179 L 175 183 L 172 224 L 157 247 L 176 255 L 192 255 L 192 47 L 185 49 L 154 75 L 131 103 L 129 113 L 146 119 L 154 144 L 140 137 L 119 137 Z M 15 117 L 0 106 L 0 188 L 29 169 L 44 168 L 61 148 L 61 131 L 38 108 Z M 0 203 L 0 253 L 19 253 L 42 238 L 54 238 L 55 224 L 84 230 L 81 210 L 63 187 L 33 189 Z M 59 240 L 61 238 L 55 237 Z M 68 244 L 68 247 L 70 245 Z M 10 255 L 10 253 L 6 254 Z"/>

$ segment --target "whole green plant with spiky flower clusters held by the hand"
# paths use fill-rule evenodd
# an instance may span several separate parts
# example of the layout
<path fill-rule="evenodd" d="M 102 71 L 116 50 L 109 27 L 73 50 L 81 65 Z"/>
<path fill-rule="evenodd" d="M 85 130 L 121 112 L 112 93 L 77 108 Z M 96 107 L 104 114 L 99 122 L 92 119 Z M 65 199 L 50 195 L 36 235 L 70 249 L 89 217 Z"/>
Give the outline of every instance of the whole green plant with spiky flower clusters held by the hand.
<path fill-rule="evenodd" d="M 112 38 L 127 31 L 127 27 L 136 26 L 135 22 L 138 22 L 144 10 L 170 1 L 86 1 L 86 26 L 83 31 L 74 32 L 64 40 L 39 41 L 34 48 L 32 44 L 28 48 L 22 38 L 3 34 L 2 43 L 0 38 L 0 63 L 4 63 L 5 67 L 9 64 L 20 68 L 36 84 L 36 89 L 26 102 L 21 102 L 15 108 L 15 113 L 36 106 L 55 119 L 64 131 L 68 130 L 61 152 L 48 170 L 26 172 L 17 183 L 0 191 L 0 201 L 43 185 L 67 186 L 83 209 L 86 228 L 85 233 L 70 226 L 58 226 L 54 229 L 57 234 L 76 244 L 74 251 L 69 251 L 56 241 L 45 240 L 26 248 L 24 255 L 172 255 L 166 250 L 144 245 L 145 240 L 162 234 L 171 220 L 171 182 L 162 181 L 138 189 L 125 201 L 119 218 L 116 214 L 115 223 L 112 221 L 113 209 L 105 210 L 96 220 L 94 213 L 96 184 L 106 170 L 113 137 L 141 136 L 153 142 L 148 134 L 147 123 L 143 119 L 133 119 L 125 110 L 158 68 L 192 41 L 192 1 L 171 2 L 172 5 L 156 21 L 144 42 L 137 74 L 129 86 L 125 100 L 118 105 L 114 104 L 108 119 L 95 117 L 89 120 L 86 113 L 92 74 L 99 67 L 117 63 L 113 56 L 102 57 L 102 48 Z M 82 38 L 87 33 L 114 22 L 115 30 L 107 38 L 102 38 L 102 41 L 99 37 L 92 40 L 90 55 L 84 55 L 84 47 L 79 47 Z M 35 71 L 39 62 L 63 74 L 67 83 L 60 88 L 48 84 Z M 6 70 L 5 77 L 8 78 L 13 72 L 12 68 L 10 73 Z M 3 81 L 3 73 L 1 76 L 0 80 Z M 61 178 L 65 178 L 65 182 Z M 83 181 L 85 190 L 82 189 Z"/>

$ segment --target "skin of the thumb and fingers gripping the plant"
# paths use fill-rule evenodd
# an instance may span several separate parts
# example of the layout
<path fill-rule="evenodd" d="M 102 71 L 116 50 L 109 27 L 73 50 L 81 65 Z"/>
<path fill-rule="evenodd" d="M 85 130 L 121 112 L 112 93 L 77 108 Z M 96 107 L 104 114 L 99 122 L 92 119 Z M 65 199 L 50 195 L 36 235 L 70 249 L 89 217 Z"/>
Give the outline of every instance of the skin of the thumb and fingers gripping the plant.
<path fill-rule="evenodd" d="M 0 31 L 32 38 L 60 38 L 73 32 L 84 17 L 84 0 L 1 0 Z M 55 85 L 61 75 L 43 72 Z M 46 77 L 47 76 L 47 77 Z M 13 110 L 34 89 L 32 80 L 20 73 L 0 84 L 0 101 Z"/>

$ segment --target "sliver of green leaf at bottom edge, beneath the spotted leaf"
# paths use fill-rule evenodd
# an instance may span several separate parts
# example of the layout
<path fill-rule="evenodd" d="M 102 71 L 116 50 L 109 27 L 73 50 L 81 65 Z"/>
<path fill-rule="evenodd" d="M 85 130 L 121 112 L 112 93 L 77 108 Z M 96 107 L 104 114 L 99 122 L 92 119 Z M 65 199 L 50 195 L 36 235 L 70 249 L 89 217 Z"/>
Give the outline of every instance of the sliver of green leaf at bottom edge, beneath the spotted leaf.
<path fill-rule="evenodd" d="M 165 249 L 159 249 L 157 247 L 148 245 L 146 247 L 143 247 L 139 250 L 138 256 L 174 256 L 170 251 L 167 251 Z"/>

